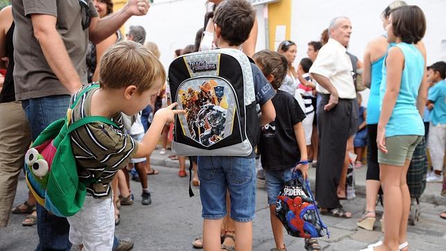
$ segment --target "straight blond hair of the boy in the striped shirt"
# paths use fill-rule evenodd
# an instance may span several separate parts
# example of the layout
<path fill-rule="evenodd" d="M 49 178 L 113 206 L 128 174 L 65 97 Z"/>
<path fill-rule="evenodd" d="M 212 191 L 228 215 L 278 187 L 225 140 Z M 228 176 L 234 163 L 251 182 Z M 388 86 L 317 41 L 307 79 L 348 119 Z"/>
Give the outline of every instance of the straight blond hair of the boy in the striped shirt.
<path fill-rule="evenodd" d="M 99 85 L 102 89 L 121 89 L 135 85 L 138 93 L 166 80 L 163 64 L 149 49 L 133 41 L 110 46 L 100 58 Z M 161 86 L 159 86 L 161 87 Z"/>

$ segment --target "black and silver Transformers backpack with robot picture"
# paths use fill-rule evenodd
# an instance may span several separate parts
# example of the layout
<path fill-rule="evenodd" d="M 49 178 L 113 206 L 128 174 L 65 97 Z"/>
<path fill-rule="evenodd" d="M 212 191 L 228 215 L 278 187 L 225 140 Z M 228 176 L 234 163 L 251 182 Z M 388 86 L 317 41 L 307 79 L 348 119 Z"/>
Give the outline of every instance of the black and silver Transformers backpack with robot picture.
<path fill-rule="evenodd" d="M 260 123 L 251 63 L 244 53 L 217 49 L 181 55 L 170 64 L 168 85 L 171 101 L 186 110 L 175 117 L 175 155 L 252 152 Z"/>

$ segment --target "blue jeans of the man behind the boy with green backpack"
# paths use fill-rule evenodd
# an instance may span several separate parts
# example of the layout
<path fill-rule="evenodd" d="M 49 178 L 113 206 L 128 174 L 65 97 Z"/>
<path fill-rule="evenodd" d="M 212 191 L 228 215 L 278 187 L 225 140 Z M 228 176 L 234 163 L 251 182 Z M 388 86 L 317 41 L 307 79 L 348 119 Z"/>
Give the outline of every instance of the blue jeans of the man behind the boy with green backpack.
<path fill-rule="evenodd" d="M 30 123 L 33 140 L 50 123 L 66 115 L 69 101 L 69 95 L 61 95 L 32 98 L 21 102 Z M 39 245 L 36 250 L 70 250 L 69 229 L 70 225 L 66 218 L 48 214 L 48 211 L 37 203 Z"/>

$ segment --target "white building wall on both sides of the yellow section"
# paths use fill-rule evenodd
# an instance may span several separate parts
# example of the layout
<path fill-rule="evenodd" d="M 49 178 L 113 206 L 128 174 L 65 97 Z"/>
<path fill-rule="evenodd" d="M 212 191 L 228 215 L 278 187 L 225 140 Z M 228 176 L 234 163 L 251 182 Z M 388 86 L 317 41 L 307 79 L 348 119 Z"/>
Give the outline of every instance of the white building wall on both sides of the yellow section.
<path fill-rule="evenodd" d="M 368 41 L 384 33 L 380 14 L 391 0 L 292 0 L 291 40 L 298 46 L 296 64 L 306 57 L 307 42 L 319 40 L 330 20 L 337 16 L 349 17 L 353 23 L 350 51 L 362 59 Z M 204 24 L 206 0 L 156 0 L 144 17 L 132 17 L 125 27 L 141 25 L 147 40 L 156 42 L 161 51 L 161 62 L 166 69 L 175 49 L 195 42 L 195 33 Z M 427 63 L 446 60 L 446 0 L 407 0 L 425 12 L 427 33 L 423 40 L 427 48 Z M 265 5 L 256 6 L 258 14 L 258 42 L 256 50 L 267 47 Z M 442 40 L 444 44 L 442 46 Z"/>

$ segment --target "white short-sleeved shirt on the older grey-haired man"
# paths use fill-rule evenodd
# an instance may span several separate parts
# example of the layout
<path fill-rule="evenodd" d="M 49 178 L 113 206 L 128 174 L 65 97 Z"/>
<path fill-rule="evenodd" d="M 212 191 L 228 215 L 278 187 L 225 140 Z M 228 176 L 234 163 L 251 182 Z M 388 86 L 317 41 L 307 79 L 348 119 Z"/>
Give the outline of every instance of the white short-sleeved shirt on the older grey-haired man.
<path fill-rule="evenodd" d="M 310 73 L 317 73 L 328 78 L 337 89 L 339 98 L 353 99 L 356 98 L 352 76 L 353 67 L 346 52 L 346 47 L 330 38 L 328 43 L 319 50 L 317 58 L 310 68 Z M 316 85 L 316 91 L 330 94 L 319 84 Z"/>

